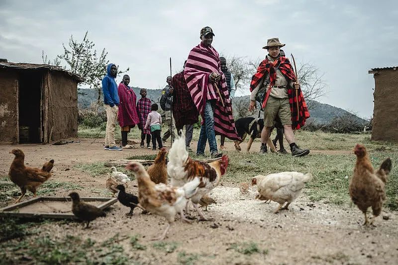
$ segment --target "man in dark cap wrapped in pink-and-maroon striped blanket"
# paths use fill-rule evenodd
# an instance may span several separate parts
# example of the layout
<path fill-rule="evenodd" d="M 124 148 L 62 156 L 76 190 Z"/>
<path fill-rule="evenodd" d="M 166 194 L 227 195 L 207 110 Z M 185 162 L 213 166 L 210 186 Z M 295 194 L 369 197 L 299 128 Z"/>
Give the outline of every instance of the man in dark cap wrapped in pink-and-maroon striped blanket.
<path fill-rule="evenodd" d="M 219 55 L 211 46 L 213 36 L 210 27 L 200 30 L 201 42 L 188 56 L 184 77 L 202 118 L 197 154 L 204 154 L 208 140 L 211 158 L 218 158 L 222 154 L 217 151 L 215 135 L 223 135 L 231 140 L 240 140 L 240 138 L 236 132 Z"/>

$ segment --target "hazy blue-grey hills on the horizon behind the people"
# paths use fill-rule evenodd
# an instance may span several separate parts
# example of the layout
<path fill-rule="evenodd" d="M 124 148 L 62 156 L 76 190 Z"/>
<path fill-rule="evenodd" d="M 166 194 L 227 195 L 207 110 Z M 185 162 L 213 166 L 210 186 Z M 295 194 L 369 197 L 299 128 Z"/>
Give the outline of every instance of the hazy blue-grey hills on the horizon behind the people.
<path fill-rule="evenodd" d="M 134 88 L 134 92 L 137 95 L 137 99 L 141 98 L 140 90 L 141 88 Z M 154 102 L 159 102 L 162 89 L 147 89 L 147 97 Z M 85 95 L 79 95 L 78 104 L 80 109 L 88 108 L 93 101 L 97 100 L 97 91 L 95 89 L 80 89 L 80 92 L 85 93 Z M 101 101 L 102 101 L 101 94 Z M 243 102 L 249 102 L 249 95 L 236 97 L 234 103 L 242 100 Z M 312 104 L 312 109 L 310 110 L 311 120 L 315 123 L 326 124 L 330 122 L 334 117 L 339 117 L 342 115 L 352 115 L 359 123 L 368 123 L 368 121 L 338 107 L 331 106 L 329 104 L 320 103 L 317 101 L 309 102 Z M 235 114 L 234 114 L 235 115 Z M 255 114 L 257 116 L 257 113 Z"/>

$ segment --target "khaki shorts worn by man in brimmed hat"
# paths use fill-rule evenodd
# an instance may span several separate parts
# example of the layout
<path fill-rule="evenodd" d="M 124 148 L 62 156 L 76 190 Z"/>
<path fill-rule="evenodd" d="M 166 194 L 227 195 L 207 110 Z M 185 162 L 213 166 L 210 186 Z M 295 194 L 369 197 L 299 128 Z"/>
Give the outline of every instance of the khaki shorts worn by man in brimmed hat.
<path fill-rule="evenodd" d="M 292 125 L 289 98 L 277 98 L 270 95 L 264 110 L 264 126 L 274 126 L 277 115 L 279 115 L 282 125 Z"/>

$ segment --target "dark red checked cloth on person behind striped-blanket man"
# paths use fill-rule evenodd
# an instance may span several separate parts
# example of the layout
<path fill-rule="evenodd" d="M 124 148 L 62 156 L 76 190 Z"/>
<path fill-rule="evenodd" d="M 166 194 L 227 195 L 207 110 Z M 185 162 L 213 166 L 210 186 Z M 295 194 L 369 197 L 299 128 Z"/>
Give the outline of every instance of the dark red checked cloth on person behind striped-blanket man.
<path fill-rule="evenodd" d="M 184 71 L 173 77 L 172 86 L 174 88 L 172 111 L 176 128 L 182 128 L 186 124 L 197 123 L 199 121 L 199 112 L 185 81 Z"/>

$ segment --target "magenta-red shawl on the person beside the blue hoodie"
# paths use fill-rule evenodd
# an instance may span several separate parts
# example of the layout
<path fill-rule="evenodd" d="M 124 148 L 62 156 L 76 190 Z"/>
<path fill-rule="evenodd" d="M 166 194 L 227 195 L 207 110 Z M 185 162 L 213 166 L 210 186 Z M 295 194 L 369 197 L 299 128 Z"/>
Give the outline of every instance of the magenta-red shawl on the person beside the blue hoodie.
<path fill-rule="evenodd" d="M 140 121 L 135 107 L 137 96 L 133 89 L 120 83 L 117 87 L 117 92 L 120 99 L 119 113 L 117 115 L 120 127 L 138 124 Z"/>

